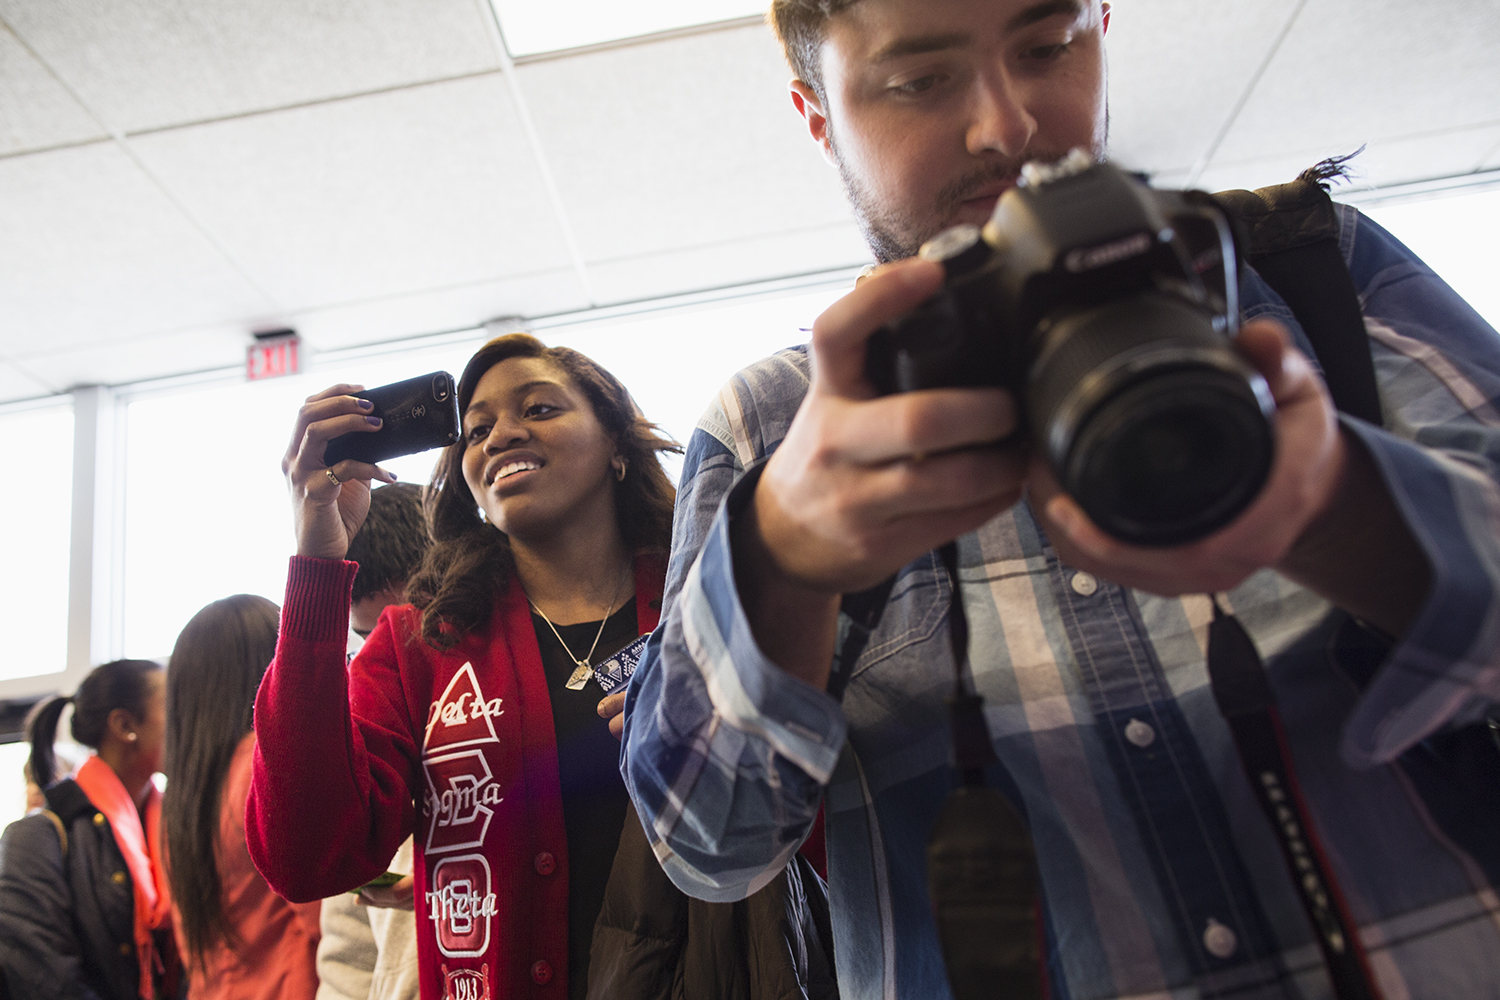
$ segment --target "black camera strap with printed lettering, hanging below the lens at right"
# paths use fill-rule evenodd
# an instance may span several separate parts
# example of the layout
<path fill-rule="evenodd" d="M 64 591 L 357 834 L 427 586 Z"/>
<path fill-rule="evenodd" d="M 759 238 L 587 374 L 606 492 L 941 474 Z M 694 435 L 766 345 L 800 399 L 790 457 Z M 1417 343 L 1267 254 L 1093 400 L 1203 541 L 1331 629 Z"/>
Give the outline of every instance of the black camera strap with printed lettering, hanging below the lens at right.
<path fill-rule="evenodd" d="M 1359 931 L 1329 868 L 1292 766 L 1275 694 L 1256 643 L 1216 597 L 1209 624 L 1209 684 L 1234 736 L 1240 766 L 1270 820 L 1292 883 L 1312 925 L 1336 1000 L 1380 1000 Z"/>

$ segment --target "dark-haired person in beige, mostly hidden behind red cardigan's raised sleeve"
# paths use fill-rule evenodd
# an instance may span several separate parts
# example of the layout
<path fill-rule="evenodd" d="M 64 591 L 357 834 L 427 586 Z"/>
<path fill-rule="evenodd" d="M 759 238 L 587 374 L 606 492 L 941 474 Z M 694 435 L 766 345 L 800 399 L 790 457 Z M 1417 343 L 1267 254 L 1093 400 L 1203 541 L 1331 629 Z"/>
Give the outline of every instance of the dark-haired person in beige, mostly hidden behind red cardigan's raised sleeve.
<path fill-rule="evenodd" d="M 370 511 L 350 540 L 348 561 L 358 564 L 350 601 L 350 657 L 375 631 L 381 612 L 406 603 L 406 580 L 428 552 L 422 487 L 392 483 L 370 490 Z M 411 838 L 386 868 L 411 874 Z M 405 892 L 399 897 L 399 892 Z M 392 897 L 400 906 L 378 906 Z M 417 996 L 417 924 L 411 886 L 339 892 L 322 901 L 318 942 L 318 1000 L 412 1000 Z"/>

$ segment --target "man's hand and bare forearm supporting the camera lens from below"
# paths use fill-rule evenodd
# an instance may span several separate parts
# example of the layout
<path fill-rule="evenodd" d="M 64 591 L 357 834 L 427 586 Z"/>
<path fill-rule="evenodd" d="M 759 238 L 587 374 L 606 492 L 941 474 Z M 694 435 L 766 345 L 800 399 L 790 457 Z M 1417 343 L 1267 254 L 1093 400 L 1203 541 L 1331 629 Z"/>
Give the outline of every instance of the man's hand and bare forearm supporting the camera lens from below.
<path fill-rule="evenodd" d="M 1047 537 L 1068 565 L 1152 594 L 1227 591 L 1276 568 L 1402 634 L 1426 597 L 1430 568 L 1370 456 L 1340 429 L 1323 381 L 1281 324 L 1245 324 L 1236 348 L 1276 400 L 1276 457 L 1245 513 L 1192 544 L 1130 546 L 1100 531 L 1036 460 L 1030 502 Z"/>

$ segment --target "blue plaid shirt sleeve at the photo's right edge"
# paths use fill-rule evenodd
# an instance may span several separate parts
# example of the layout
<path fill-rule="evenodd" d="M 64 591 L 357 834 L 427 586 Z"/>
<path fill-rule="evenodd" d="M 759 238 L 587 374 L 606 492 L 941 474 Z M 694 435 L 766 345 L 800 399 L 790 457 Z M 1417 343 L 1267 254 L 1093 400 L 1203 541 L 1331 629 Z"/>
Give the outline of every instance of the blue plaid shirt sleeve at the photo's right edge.
<path fill-rule="evenodd" d="M 1346 759 L 1374 765 L 1500 702 L 1500 336 L 1389 232 L 1341 213 L 1384 415 L 1384 429 L 1344 426 L 1432 570 L 1344 730 Z"/>

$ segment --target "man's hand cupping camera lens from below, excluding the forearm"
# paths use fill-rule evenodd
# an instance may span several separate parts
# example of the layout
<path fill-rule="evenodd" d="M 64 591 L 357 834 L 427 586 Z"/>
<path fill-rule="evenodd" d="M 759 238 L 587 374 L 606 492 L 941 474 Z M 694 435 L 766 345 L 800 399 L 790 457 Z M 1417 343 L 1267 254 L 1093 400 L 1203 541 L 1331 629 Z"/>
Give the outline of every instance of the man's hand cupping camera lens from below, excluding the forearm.
<path fill-rule="evenodd" d="M 1323 514 L 1344 475 L 1348 447 L 1323 379 L 1269 319 L 1246 322 L 1234 342 L 1276 400 L 1276 456 L 1260 496 L 1228 526 L 1186 546 L 1131 546 L 1104 534 L 1034 459 L 1032 510 L 1068 565 L 1152 594 L 1227 591 L 1257 570 L 1278 567 Z"/>

